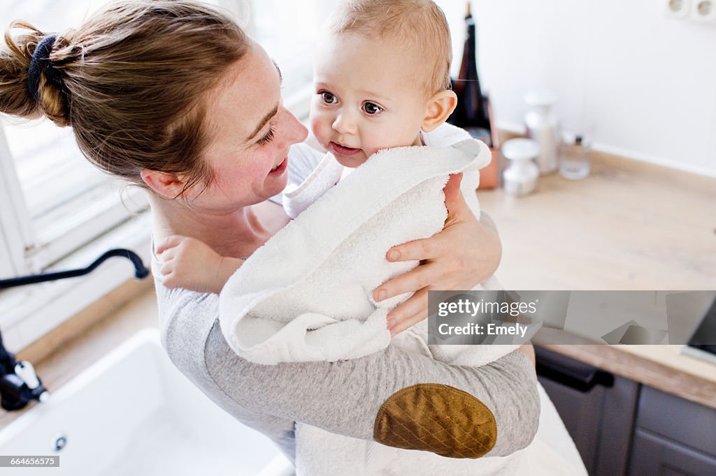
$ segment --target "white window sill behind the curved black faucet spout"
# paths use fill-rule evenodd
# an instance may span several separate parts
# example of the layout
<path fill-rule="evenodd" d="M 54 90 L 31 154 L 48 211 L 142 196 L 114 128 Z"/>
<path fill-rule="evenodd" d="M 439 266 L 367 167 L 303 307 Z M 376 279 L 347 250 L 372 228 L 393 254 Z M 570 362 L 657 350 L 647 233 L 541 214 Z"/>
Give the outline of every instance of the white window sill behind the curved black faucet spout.
<path fill-rule="evenodd" d="M 111 248 L 131 249 L 149 268 L 151 229 L 149 212 L 139 214 L 47 271 L 87 267 Z M 130 279 L 134 279 L 132 263 L 112 257 L 82 277 L 0 291 L 0 330 L 5 346 L 11 352 L 23 349 Z"/>

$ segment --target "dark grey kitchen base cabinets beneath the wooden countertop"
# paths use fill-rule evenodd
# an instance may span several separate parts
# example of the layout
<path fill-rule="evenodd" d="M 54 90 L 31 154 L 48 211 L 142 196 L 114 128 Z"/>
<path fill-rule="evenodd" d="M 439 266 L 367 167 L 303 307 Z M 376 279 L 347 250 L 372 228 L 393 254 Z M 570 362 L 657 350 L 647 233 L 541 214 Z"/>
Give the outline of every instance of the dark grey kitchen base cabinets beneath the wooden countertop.
<path fill-rule="evenodd" d="M 716 476 L 716 410 L 535 349 L 589 475 Z"/>

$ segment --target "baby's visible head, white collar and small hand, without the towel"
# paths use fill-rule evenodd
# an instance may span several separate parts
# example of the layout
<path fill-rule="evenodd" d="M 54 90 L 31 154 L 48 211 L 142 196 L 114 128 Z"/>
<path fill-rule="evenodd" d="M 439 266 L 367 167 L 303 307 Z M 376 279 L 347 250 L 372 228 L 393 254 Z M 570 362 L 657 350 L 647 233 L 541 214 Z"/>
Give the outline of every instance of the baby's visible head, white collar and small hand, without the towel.
<path fill-rule="evenodd" d="M 443 124 L 457 104 L 450 89 L 450 29 L 435 3 L 342 1 L 321 36 L 310 121 L 316 141 L 329 153 L 316 167 L 320 174 L 284 191 L 291 218 L 379 150 L 468 137 L 452 128 L 433 144 L 422 134 Z M 463 188 L 473 193 L 465 199 L 475 211 L 477 184 L 469 182 L 463 180 Z M 198 262 L 165 263 L 163 273 L 172 275 L 175 287 L 218 294 L 241 266 L 241 260 L 220 257 L 196 239 L 175 240 L 158 252 L 180 243 L 180 256 Z"/>

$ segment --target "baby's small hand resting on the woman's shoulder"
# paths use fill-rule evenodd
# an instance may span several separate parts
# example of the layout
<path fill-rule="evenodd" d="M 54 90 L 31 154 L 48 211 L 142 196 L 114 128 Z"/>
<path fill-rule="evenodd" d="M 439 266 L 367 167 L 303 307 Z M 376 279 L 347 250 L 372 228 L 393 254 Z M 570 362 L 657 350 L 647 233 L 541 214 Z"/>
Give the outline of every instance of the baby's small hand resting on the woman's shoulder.
<path fill-rule="evenodd" d="M 161 262 L 160 280 L 168 288 L 183 287 L 198 292 L 221 292 L 223 257 L 208 244 L 178 234 L 167 237 L 157 246 Z"/>

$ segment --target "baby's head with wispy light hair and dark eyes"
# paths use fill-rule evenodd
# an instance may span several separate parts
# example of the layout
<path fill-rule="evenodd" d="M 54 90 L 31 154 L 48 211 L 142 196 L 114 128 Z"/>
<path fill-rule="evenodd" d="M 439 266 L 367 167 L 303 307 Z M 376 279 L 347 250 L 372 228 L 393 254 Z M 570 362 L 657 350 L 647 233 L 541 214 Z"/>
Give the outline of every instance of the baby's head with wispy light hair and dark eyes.
<path fill-rule="evenodd" d="M 364 1 L 352 11 L 358 3 L 344 2 L 326 24 L 311 104 L 314 137 L 350 168 L 380 149 L 422 145 L 421 132 L 457 103 L 442 11 L 432 1 Z"/>

